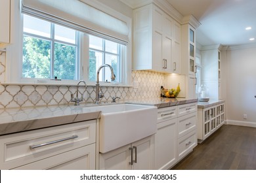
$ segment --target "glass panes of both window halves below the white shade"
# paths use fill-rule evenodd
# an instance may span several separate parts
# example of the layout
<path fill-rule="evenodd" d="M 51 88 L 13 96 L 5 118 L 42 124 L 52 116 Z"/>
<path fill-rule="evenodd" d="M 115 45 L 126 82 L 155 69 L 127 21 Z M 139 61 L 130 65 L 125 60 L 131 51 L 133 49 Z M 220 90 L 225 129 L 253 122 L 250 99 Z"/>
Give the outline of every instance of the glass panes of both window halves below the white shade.
<path fill-rule="evenodd" d="M 125 46 L 93 35 L 87 35 L 74 29 L 53 24 L 33 16 L 24 14 L 23 27 L 23 61 L 22 78 L 39 78 L 60 80 L 79 80 L 85 78 L 89 82 L 96 81 L 96 71 L 100 65 L 112 65 L 116 75 L 115 82 L 121 80 L 121 54 Z M 80 35 L 85 48 L 80 48 Z M 82 44 L 81 44 L 82 45 Z M 80 63 L 79 53 L 89 52 L 89 63 Z M 85 76 L 80 75 L 81 65 L 88 65 Z M 100 81 L 110 82 L 110 69 L 100 71 Z"/>

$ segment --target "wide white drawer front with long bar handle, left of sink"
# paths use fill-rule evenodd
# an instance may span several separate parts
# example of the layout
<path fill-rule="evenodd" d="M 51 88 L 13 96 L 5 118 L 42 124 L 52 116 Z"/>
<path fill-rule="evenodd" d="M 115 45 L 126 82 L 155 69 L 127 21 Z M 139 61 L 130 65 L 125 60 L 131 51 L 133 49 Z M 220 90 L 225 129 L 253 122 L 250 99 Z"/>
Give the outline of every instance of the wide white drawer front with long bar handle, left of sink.
<path fill-rule="evenodd" d="M 96 120 L 0 137 L 0 168 L 12 169 L 96 142 Z"/>

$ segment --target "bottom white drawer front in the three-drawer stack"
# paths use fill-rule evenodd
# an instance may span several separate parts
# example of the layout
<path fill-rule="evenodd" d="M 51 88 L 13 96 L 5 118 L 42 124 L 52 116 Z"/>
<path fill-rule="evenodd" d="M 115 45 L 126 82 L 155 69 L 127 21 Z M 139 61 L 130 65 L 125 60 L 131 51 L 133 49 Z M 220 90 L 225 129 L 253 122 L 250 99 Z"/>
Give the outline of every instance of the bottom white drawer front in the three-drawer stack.
<path fill-rule="evenodd" d="M 196 131 L 192 131 L 187 135 L 178 139 L 178 161 L 186 156 L 198 144 Z"/>

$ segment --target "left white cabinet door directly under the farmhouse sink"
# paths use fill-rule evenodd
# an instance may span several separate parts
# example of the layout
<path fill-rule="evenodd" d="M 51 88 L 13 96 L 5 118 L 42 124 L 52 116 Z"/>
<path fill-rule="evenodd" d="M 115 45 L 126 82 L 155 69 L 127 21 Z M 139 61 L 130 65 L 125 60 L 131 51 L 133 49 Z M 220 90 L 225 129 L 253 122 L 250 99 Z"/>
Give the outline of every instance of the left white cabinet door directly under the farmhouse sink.
<path fill-rule="evenodd" d="M 131 144 L 116 150 L 100 154 L 101 170 L 129 170 L 131 169 Z"/>

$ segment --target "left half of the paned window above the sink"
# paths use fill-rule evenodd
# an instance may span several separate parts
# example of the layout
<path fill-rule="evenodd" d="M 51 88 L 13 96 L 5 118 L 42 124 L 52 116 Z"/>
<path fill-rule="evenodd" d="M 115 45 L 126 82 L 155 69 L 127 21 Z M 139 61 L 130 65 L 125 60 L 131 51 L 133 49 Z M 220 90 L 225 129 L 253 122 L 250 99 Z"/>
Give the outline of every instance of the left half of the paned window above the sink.
<path fill-rule="evenodd" d="M 22 78 L 79 79 L 79 34 L 24 14 Z"/>

